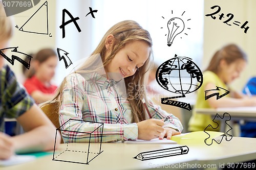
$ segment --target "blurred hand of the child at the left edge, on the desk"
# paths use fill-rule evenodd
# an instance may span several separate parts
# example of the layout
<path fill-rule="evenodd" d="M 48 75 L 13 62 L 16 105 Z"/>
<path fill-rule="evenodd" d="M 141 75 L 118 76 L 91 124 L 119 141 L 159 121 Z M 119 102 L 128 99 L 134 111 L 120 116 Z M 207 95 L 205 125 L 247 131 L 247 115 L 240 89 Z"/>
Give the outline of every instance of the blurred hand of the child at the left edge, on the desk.
<path fill-rule="evenodd" d="M 11 137 L 0 132 L 0 159 L 8 159 L 14 155 L 14 145 Z"/>

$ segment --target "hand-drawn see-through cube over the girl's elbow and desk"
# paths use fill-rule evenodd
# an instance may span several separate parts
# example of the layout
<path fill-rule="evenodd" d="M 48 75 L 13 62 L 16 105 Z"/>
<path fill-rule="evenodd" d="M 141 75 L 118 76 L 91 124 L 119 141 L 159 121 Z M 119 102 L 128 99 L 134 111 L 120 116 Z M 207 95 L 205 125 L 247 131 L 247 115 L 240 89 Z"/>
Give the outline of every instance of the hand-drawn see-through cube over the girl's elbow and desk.
<path fill-rule="evenodd" d="M 88 126 L 91 124 L 94 126 L 94 129 L 90 132 L 84 131 L 71 131 L 70 126 L 71 124 L 81 123 L 84 126 Z M 68 129 L 63 128 L 64 126 L 68 126 Z M 89 164 L 93 159 L 95 159 L 99 154 L 103 151 L 101 150 L 102 144 L 102 134 L 103 134 L 103 123 L 99 122 L 90 122 L 86 120 L 78 120 L 78 119 L 69 119 L 66 123 L 62 124 L 59 128 L 56 129 L 55 134 L 55 143 L 54 143 L 54 151 L 53 151 L 53 159 L 54 161 L 61 161 L 61 162 L 71 162 L 71 163 L 80 163 L 80 164 Z M 63 133 L 67 134 L 66 140 L 66 147 L 58 149 L 56 151 L 56 138 L 57 132 L 62 132 L 62 137 L 65 136 Z M 84 138 L 89 138 L 89 142 L 84 143 L 82 148 L 77 148 L 74 143 L 70 142 L 70 136 L 83 136 Z M 91 136 L 96 135 L 100 138 L 100 142 L 94 143 L 94 147 L 90 146 L 91 143 Z M 95 147 L 96 145 L 96 147 Z M 69 160 L 67 160 L 69 159 Z"/>

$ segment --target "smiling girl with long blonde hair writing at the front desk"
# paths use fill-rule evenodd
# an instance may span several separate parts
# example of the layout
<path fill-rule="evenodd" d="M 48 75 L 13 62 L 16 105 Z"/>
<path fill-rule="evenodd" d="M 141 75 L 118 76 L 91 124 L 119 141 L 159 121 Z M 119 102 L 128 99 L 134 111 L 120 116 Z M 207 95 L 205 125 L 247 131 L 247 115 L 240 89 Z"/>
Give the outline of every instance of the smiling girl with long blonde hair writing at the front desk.
<path fill-rule="evenodd" d="M 56 91 L 60 125 L 70 118 L 104 123 L 103 142 L 180 134 L 180 120 L 146 98 L 144 87 L 151 56 L 150 33 L 132 20 L 116 23 L 87 61 L 67 76 Z M 70 121 L 61 128 L 69 130 L 61 131 L 64 142 L 84 142 L 89 141 L 88 136 L 71 131 L 91 132 L 94 124 Z M 93 133 L 91 141 L 100 142 L 100 134 Z"/>

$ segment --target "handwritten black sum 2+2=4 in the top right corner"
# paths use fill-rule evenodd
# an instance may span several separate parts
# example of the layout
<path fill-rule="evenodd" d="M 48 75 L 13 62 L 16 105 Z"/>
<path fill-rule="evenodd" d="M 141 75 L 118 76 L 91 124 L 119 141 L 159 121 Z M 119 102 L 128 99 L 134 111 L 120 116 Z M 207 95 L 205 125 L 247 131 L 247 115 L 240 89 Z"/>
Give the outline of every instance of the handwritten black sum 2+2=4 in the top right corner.
<path fill-rule="evenodd" d="M 210 13 L 210 14 L 206 14 L 205 16 L 210 16 L 212 19 L 216 19 L 216 16 L 214 16 L 214 15 L 215 15 L 215 14 L 218 14 L 218 13 L 221 11 L 221 7 L 218 6 L 218 5 L 215 5 L 215 6 L 210 7 L 210 9 L 215 9 L 215 8 L 217 8 L 217 10 L 216 10 L 215 12 L 212 12 L 212 13 Z M 224 13 L 220 14 L 219 16 L 220 16 L 220 17 L 219 17 L 219 20 L 222 20 L 222 18 L 225 18 L 225 17 L 224 17 Z M 231 14 L 231 13 L 228 13 L 226 16 L 227 16 L 227 19 L 226 19 L 225 21 L 223 21 L 223 23 L 226 23 L 226 25 L 231 26 L 231 24 L 228 23 L 228 22 L 233 19 L 234 15 Z M 240 23 L 241 23 L 241 22 L 236 21 L 236 20 L 233 21 L 233 25 L 236 25 L 236 26 L 238 26 L 238 27 L 240 27 Z M 244 33 L 245 33 L 245 34 L 247 33 L 247 31 L 248 31 L 248 29 L 249 29 L 248 26 L 245 27 L 245 26 L 247 25 L 247 23 L 248 23 L 248 21 L 245 21 L 245 22 L 243 23 L 243 25 L 240 27 L 241 29 L 244 29 Z"/>

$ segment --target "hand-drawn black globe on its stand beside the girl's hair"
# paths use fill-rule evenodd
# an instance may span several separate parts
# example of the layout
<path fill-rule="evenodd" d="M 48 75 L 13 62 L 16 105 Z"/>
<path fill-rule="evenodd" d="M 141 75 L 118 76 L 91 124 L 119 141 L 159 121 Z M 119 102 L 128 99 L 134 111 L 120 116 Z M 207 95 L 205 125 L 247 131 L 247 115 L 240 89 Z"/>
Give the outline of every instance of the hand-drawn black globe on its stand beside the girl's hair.
<path fill-rule="evenodd" d="M 203 83 L 200 68 L 188 57 L 177 57 L 162 63 L 156 71 L 157 83 L 167 91 L 180 94 L 169 98 L 161 98 L 161 103 L 191 110 L 188 103 L 172 101 L 170 99 L 185 98 L 185 94 L 196 91 Z M 181 75 L 186 75 L 182 77 Z M 196 80 L 199 84 L 193 84 Z"/>

